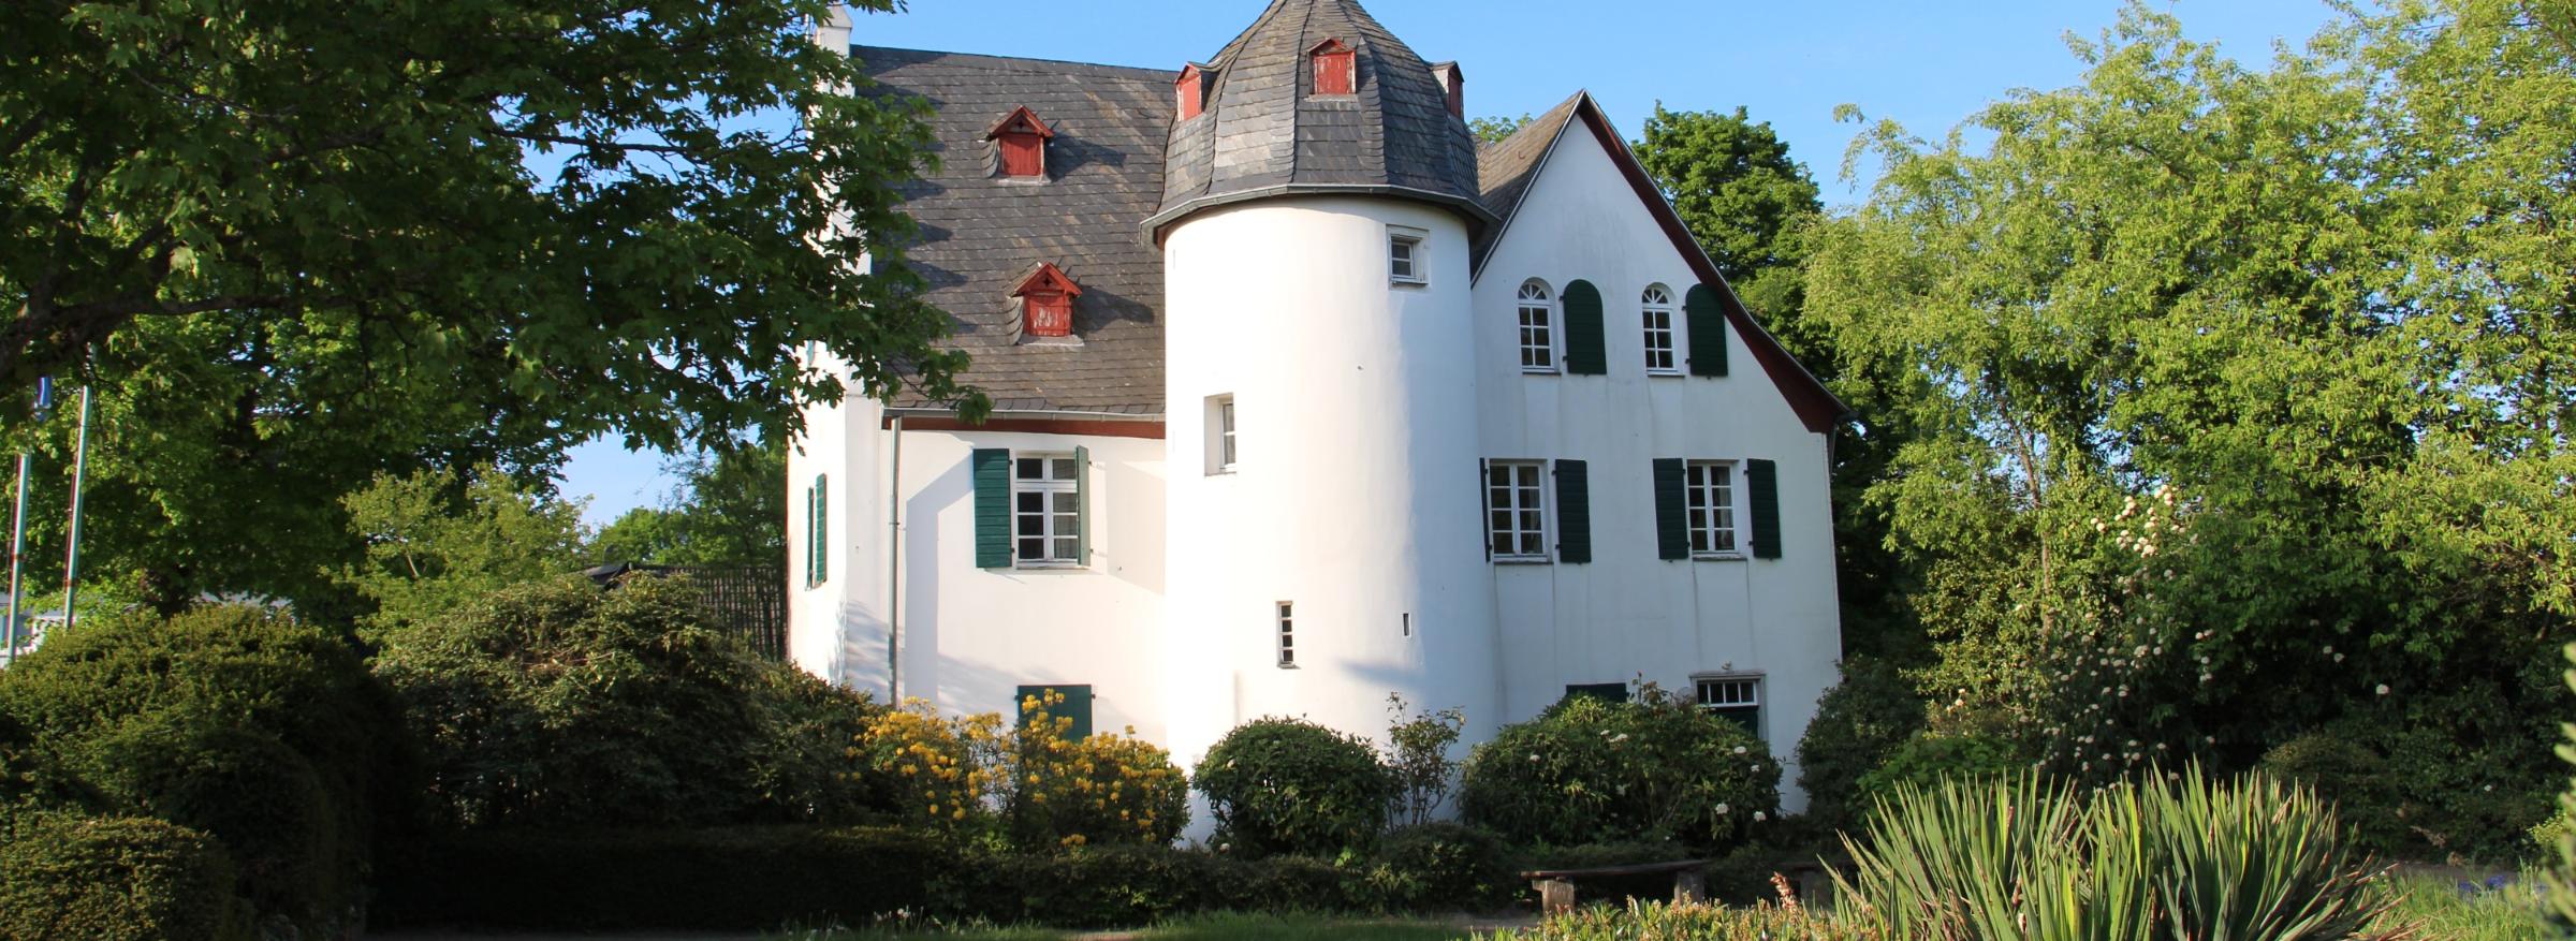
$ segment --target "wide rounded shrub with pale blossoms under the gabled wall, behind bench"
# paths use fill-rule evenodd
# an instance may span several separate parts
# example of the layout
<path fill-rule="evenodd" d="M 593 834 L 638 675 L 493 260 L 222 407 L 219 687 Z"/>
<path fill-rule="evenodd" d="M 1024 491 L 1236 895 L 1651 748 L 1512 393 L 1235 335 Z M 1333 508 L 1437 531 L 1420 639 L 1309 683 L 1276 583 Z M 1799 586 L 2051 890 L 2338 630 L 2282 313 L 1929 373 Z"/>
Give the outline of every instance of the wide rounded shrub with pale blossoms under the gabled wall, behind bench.
<path fill-rule="evenodd" d="M 1507 724 L 1466 761 L 1466 820 L 1515 843 L 1723 848 L 1780 804 L 1780 766 L 1736 722 L 1646 686 Z"/>

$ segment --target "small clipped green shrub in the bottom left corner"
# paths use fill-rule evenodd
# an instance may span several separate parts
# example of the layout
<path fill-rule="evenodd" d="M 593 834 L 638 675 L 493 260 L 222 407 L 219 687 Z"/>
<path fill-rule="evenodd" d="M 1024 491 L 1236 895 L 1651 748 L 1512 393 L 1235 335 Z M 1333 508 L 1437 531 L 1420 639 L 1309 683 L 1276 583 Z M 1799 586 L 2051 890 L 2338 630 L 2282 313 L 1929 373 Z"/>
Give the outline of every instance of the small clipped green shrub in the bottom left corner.
<path fill-rule="evenodd" d="M 224 848 L 144 817 L 31 817 L 0 840 L 0 941 L 240 941 Z"/>

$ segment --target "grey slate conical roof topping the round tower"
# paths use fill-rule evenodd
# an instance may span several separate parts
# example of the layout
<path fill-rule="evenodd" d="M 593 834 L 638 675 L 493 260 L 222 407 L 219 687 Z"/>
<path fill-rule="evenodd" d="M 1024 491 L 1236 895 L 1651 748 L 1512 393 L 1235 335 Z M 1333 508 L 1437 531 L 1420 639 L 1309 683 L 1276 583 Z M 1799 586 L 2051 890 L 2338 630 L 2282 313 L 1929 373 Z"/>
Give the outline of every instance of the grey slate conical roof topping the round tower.
<path fill-rule="evenodd" d="M 1350 95 L 1314 95 L 1311 52 L 1342 44 Z M 1422 57 L 1352 0 L 1273 0 L 1200 72 L 1206 108 L 1172 124 L 1151 235 L 1182 217 L 1267 196 L 1370 193 L 1450 206 L 1476 224 L 1476 137 L 1448 111 Z"/>

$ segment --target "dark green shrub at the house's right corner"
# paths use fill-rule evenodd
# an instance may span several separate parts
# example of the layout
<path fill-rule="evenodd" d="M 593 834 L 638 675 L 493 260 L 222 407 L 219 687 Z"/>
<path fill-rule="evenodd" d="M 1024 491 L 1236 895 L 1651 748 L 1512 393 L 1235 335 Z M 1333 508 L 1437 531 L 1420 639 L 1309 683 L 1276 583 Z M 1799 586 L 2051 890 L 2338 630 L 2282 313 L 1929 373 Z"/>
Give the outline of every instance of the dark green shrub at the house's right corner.
<path fill-rule="evenodd" d="M 1842 683 L 1816 701 L 1816 719 L 1798 740 L 1798 786 L 1806 815 L 1850 825 L 1868 802 L 1860 776 L 1888 763 L 1924 727 L 1924 701 L 1893 665 L 1870 657 L 1842 663 Z"/>

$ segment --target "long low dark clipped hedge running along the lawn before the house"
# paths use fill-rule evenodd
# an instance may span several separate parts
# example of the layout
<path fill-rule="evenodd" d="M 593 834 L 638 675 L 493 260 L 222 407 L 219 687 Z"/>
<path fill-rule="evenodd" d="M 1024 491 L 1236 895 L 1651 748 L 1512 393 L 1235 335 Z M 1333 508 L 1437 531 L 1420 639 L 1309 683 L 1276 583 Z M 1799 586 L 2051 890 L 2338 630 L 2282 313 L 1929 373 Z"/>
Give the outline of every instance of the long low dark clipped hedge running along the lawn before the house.
<path fill-rule="evenodd" d="M 909 913 L 1118 928 L 1218 910 L 1489 910 L 1510 879 L 1489 840 L 1435 830 L 1396 840 L 1401 859 L 1337 866 L 1170 846 L 994 853 L 894 828 L 479 830 L 392 866 L 374 926 L 770 931 Z"/>

